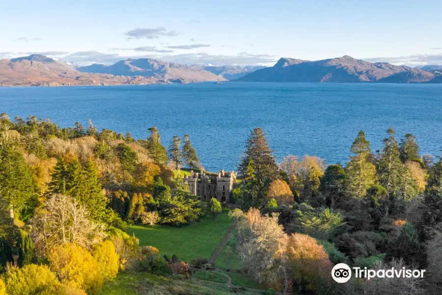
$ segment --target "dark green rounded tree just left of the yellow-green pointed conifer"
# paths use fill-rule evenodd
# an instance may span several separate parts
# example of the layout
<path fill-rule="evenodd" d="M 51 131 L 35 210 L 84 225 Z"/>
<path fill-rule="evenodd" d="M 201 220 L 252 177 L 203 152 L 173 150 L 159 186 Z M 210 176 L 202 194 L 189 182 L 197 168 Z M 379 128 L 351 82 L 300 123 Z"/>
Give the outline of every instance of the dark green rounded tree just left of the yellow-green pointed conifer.
<path fill-rule="evenodd" d="M 342 199 L 346 178 L 345 170 L 339 165 L 330 165 L 321 177 L 319 190 L 326 196 L 326 204 L 331 208 Z"/>

